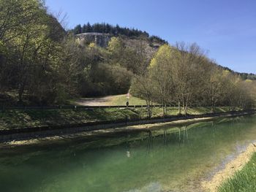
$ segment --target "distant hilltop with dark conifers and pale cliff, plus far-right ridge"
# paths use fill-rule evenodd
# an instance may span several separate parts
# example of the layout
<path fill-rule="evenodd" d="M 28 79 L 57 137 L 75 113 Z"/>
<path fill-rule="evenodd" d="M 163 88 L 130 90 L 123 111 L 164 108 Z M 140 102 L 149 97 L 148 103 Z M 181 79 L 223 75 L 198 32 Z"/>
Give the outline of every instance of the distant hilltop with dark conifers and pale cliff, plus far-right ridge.
<path fill-rule="evenodd" d="M 128 47 L 135 47 L 135 45 L 142 44 L 146 47 L 146 55 L 148 58 L 151 58 L 161 45 L 167 43 L 165 39 L 157 36 L 150 36 L 146 31 L 120 27 L 118 25 L 113 26 L 108 23 L 95 23 L 93 25 L 87 23 L 83 26 L 79 24 L 71 31 L 80 40 L 81 44 L 85 43 L 89 45 L 89 43 L 94 42 L 99 47 L 108 47 L 108 42 L 111 37 L 121 37 Z M 242 80 L 256 80 L 256 74 L 234 72 L 226 66 L 218 66 L 232 74 L 240 76 Z"/>

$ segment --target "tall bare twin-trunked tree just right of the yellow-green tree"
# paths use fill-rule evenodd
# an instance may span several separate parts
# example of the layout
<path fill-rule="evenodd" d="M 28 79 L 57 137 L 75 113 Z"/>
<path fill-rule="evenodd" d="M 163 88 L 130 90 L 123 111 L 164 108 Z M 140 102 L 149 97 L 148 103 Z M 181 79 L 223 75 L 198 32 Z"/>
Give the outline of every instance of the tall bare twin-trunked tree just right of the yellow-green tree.
<path fill-rule="evenodd" d="M 173 66 L 173 82 L 176 86 L 176 98 L 182 104 L 185 115 L 192 97 L 200 92 L 203 83 L 204 53 L 195 43 L 186 45 L 176 43 Z"/>

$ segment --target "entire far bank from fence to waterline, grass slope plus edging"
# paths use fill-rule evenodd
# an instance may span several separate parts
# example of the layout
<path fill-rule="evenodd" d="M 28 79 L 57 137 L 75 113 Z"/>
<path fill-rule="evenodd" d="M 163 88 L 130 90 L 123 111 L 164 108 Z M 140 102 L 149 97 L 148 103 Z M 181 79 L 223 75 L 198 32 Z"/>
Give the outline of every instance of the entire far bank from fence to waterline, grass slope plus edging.
<path fill-rule="evenodd" d="M 0 141 L 61 136 L 83 131 L 106 130 L 108 128 L 123 128 L 125 131 L 131 131 L 124 127 L 148 123 L 189 123 L 191 121 L 255 113 L 255 110 L 228 112 L 225 111 L 225 108 L 219 108 L 220 112 L 215 113 L 207 112 L 207 110 L 210 109 L 200 107 L 191 109 L 191 115 L 173 115 L 176 109 L 170 107 L 167 110 L 169 114 L 161 116 L 161 109 L 158 108 L 154 110 L 153 118 L 146 118 L 146 109 L 6 111 L 1 112 L 0 120 L 3 123 L 1 123 Z M 22 123 L 20 123 L 21 120 L 23 120 Z M 24 120 L 26 121 L 24 122 Z M 10 123 L 10 125 L 7 123 Z"/>

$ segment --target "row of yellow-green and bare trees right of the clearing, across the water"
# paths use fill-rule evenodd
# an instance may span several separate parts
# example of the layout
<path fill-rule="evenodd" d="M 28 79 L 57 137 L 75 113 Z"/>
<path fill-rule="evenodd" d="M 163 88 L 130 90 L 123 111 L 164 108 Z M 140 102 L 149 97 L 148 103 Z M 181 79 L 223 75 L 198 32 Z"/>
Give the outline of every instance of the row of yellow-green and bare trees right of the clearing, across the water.
<path fill-rule="evenodd" d="M 180 106 L 184 114 L 189 106 L 210 106 L 211 112 L 217 106 L 230 110 L 255 106 L 255 82 L 215 65 L 196 44 L 162 45 L 146 71 L 132 82 L 135 96 L 164 106 L 173 104 L 179 113 Z"/>

